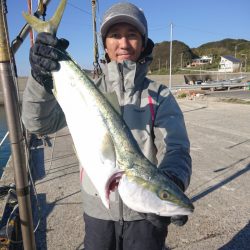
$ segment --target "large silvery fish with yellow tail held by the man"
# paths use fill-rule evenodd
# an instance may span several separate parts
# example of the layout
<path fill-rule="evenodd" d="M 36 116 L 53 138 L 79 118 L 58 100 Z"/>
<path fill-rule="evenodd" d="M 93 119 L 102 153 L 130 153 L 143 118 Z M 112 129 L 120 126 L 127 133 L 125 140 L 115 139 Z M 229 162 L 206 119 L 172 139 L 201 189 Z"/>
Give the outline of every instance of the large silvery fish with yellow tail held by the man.
<path fill-rule="evenodd" d="M 56 34 L 66 0 L 48 22 L 23 13 L 37 32 Z M 71 56 L 60 51 L 60 70 L 52 72 L 53 93 L 62 107 L 80 163 L 109 208 L 118 184 L 123 202 L 133 210 L 161 216 L 188 215 L 194 207 L 167 176 L 141 152 L 122 117 Z"/>

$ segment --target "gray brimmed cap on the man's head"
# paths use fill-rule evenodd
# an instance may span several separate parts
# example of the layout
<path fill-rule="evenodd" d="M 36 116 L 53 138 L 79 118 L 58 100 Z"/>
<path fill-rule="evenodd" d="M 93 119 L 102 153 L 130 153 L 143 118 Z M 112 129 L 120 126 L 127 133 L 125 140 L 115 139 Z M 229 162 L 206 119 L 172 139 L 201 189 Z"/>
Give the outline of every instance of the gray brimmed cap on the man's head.
<path fill-rule="evenodd" d="M 112 5 L 103 16 L 100 29 L 103 40 L 110 27 L 117 23 L 128 23 L 133 25 L 144 37 L 144 45 L 147 45 L 148 25 L 141 9 L 131 3 L 117 3 Z"/>

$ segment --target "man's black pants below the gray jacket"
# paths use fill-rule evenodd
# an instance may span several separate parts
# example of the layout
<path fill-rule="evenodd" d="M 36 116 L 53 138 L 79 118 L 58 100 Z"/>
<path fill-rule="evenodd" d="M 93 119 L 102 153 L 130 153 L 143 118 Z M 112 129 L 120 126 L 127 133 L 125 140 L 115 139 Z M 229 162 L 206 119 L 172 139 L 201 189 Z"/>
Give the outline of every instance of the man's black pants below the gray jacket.
<path fill-rule="evenodd" d="M 166 231 L 146 220 L 100 220 L 84 214 L 84 250 L 163 250 Z"/>

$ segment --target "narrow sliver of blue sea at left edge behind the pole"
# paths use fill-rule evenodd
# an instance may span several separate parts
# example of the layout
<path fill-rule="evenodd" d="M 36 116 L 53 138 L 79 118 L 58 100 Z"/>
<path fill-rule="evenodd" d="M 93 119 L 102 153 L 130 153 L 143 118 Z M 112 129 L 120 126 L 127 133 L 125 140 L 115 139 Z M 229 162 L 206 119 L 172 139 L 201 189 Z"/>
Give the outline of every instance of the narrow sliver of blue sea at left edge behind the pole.
<path fill-rule="evenodd" d="M 4 106 L 0 105 L 0 142 L 8 132 L 7 121 L 5 116 Z M 10 157 L 10 141 L 9 138 L 5 139 L 4 143 L 0 146 L 0 176 L 4 171 L 4 167 Z"/>

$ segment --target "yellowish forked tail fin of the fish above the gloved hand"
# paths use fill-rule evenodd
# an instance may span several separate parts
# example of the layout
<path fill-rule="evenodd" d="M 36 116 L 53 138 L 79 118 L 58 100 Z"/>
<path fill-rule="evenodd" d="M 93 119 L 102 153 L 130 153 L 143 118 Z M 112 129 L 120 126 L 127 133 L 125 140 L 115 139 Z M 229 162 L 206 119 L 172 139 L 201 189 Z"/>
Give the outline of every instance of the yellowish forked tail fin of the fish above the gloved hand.
<path fill-rule="evenodd" d="M 61 0 L 58 5 L 53 17 L 45 22 L 40 20 L 39 18 L 30 15 L 28 13 L 23 12 L 23 17 L 28 22 L 28 24 L 38 33 L 40 32 L 48 32 L 52 35 L 56 35 L 58 26 L 61 22 L 62 15 L 66 6 L 67 0 Z"/>

